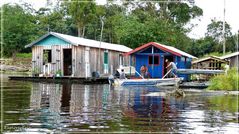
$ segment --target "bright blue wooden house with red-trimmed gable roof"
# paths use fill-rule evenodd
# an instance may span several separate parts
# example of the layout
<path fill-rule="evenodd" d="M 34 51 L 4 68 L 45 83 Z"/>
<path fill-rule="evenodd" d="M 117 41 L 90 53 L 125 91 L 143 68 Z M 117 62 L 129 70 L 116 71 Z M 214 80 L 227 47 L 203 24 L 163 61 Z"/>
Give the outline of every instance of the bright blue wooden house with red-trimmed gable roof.
<path fill-rule="evenodd" d="M 166 59 L 176 63 L 177 68 L 190 69 L 192 59 L 196 58 L 177 48 L 156 42 L 144 44 L 126 55 L 130 57 L 130 65 L 135 66 L 137 72 L 140 73 L 141 66 L 146 65 L 151 78 L 162 78 L 167 73 Z M 179 75 L 179 77 L 189 79 L 189 75 Z"/>

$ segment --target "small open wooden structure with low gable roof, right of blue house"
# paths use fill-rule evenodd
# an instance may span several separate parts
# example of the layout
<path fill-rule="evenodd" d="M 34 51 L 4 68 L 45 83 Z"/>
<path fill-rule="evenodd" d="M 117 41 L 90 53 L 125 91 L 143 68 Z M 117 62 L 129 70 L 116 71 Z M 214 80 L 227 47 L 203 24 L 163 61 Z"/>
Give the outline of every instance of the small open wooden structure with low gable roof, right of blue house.
<path fill-rule="evenodd" d="M 209 56 L 192 62 L 193 69 L 223 70 L 223 64 L 228 64 L 226 60 L 216 56 Z"/>

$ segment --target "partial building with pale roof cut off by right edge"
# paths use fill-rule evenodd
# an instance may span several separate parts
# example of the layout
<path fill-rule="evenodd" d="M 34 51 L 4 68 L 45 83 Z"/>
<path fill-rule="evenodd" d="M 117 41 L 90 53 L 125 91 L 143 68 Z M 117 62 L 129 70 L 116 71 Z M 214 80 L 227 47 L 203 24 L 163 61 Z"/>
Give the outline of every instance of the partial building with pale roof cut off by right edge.
<path fill-rule="evenodd" d="M 222 57 L 220 57 L 220 59 L 222 60 L 226 60 L 229 62 L 229 66 L 230 68 L 232 67 L 237 67 L 239 68 L 239 52 L 234 52 L 228 55 L 224 55 Z"/>

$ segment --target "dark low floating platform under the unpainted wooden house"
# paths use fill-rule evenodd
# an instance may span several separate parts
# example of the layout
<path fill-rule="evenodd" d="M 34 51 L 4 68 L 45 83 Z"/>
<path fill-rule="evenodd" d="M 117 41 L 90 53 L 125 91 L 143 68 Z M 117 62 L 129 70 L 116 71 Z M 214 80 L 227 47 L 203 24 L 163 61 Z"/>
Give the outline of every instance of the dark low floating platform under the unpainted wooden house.
<path fill-rule="evenodd" d="M 22 80 L 22 81 L 32 81 L 32 82 L 50 82 L 50 83 L 80 83 L 80 84 L 108 84 L 108 77 L 32 77 L 32 76 L 9 76 L 10 80 Z"/>

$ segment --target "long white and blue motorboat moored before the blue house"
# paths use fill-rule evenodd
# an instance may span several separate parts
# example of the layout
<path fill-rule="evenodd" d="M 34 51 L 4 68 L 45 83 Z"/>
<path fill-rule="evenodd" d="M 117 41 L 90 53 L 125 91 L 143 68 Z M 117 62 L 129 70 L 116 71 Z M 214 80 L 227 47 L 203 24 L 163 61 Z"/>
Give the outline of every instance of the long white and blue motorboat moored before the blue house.
<path fill-rule="evenodd" d="M 180 78 L 165 78 L 165 79 L 115 79 L 116 86 L 157 86 L 157 85 L 175 85 L 180 81 Z"/>

